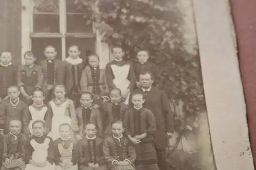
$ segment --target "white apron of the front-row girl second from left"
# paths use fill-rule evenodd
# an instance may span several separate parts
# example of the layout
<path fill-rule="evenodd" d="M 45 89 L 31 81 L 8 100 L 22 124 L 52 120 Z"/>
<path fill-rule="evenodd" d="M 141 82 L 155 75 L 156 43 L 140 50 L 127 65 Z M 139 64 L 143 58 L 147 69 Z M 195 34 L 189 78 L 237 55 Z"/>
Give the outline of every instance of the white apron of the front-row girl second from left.
<path fill-rule="evenodd" d="M 32 160 L 36 163 L 44 162 L 47 160 L 48 148 L 49 148 L 50 139 L 46 138 L 44 143 L 37 143 L 35 139 L 30 141 L 34 152 L 32 153 Z M 47 163 L 45 167 L 36 167 L 32 164 L 26 165 L 26 170 L 54 170 L 54 165 Z"/>

